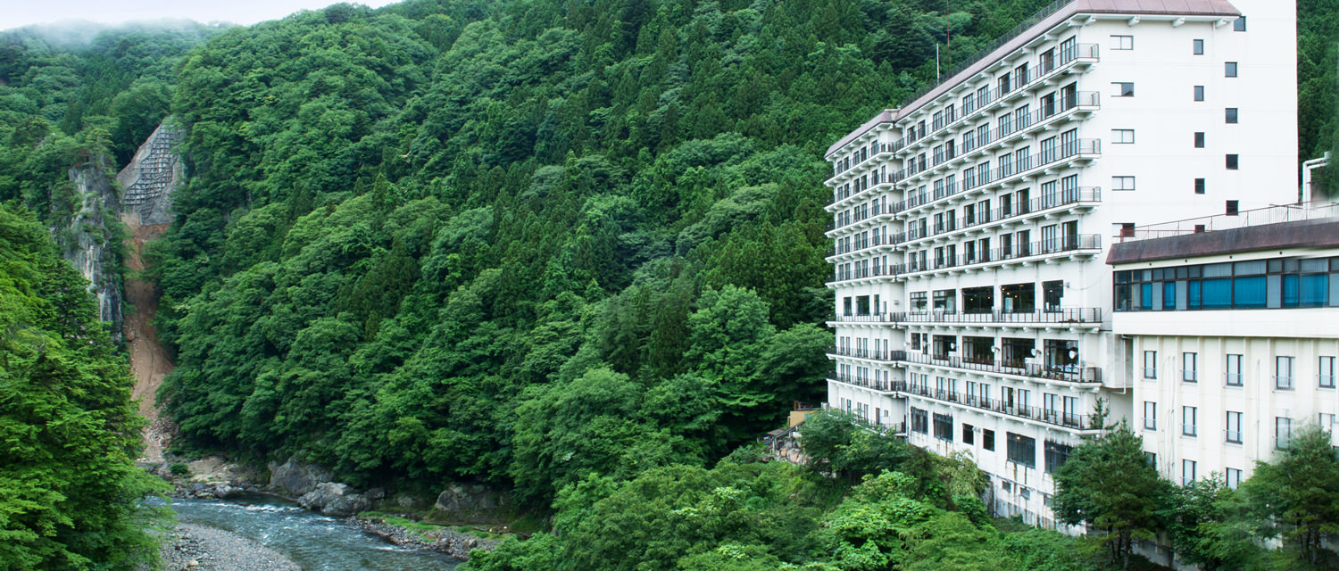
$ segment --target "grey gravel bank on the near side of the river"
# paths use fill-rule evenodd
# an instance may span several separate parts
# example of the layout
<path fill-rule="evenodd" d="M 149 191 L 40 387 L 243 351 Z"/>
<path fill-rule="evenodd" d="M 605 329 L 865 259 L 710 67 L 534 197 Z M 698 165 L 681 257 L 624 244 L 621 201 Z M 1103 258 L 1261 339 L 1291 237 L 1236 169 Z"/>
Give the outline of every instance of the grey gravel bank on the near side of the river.
<path fill-rule="evenodd" d="M 178 524 L 162 547 L 165 571 L 301 571 L 296 563 L 237 534 Z"/>

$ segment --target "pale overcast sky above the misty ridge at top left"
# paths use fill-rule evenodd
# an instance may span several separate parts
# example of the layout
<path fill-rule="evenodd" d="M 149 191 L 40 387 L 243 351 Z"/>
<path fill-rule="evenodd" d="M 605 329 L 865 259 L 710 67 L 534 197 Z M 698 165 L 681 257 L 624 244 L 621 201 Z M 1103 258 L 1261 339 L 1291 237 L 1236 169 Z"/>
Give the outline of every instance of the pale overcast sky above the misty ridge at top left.
<path fill-rule="evenodd" d="M 379 8 L 395 0 L 351 0 Z M 127 20 L 189 19 L 200 23 L 254 24 L 300 9 L 324 8 L 336 0 L 0 0 L 0 29 L 59 20 L 116 24 Z"/>

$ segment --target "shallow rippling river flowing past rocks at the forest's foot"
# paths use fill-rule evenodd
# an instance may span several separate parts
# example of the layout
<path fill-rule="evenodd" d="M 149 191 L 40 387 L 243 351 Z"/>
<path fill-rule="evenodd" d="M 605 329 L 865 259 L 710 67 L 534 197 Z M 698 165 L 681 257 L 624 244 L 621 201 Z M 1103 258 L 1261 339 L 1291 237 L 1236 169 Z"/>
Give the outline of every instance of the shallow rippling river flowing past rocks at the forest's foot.
<path fill-rule="evenodd" d="M 181 523 L 253 539 L 305 571 L 447 571 L 459 563 L 434 551 L 392 546 L 273 496 L 250 495 L 238 501 L 174 499 L 170 505 Z"/>

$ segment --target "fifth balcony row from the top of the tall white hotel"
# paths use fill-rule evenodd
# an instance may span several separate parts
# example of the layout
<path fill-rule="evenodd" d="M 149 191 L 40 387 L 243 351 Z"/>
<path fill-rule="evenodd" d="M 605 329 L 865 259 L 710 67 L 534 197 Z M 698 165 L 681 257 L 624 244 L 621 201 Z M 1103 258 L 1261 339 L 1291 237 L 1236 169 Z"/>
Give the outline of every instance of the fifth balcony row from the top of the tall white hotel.
<path fill-rule="evenodd" d="M 1000 246 L 991 250 L 952 257 L 937 257 L 928 259 L 924 266 L 919 261 L 912 261 L 908 263 L 872 263 L 869 267 L 857 267 L 852 271 L 838 270 L 833 273 L 833 281 L 828 285 L 832 286 L 838 282 L 864 278 L 901 277 L 924 271 L 980 269 L 986 265 L 999 265 L 1011 261 L 1023 261 L 1024 258 L 1031 257 L 1047 257 L 1054 254 L 1097 255 L 1101 251 L 1102 237 L 1099 234 L 1078 234 L 1060 237 L 1052 241 Z"/>

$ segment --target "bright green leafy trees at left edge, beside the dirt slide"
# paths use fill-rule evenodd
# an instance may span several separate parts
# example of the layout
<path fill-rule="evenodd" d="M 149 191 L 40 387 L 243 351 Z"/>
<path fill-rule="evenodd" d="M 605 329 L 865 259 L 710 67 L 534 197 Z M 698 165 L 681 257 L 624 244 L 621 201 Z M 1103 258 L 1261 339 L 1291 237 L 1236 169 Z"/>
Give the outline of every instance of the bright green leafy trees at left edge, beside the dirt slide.
<path fill-rule="evenodd" d="M 130 570 L 157 556 L 141 505 L 133 381 L 86 282 L 36 217 L 0 205 L 0 562 Z"/>

